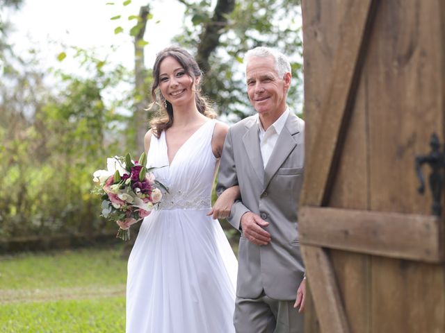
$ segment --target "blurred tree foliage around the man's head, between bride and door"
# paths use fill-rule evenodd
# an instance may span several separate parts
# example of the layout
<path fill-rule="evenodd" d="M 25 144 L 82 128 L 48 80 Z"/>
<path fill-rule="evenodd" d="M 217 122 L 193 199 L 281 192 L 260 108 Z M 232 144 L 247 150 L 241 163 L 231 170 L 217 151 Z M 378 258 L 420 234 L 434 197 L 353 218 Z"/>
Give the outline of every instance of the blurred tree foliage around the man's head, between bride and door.
<path fill-rule="evenodd" d="M 293 85 L 288 101 L 291 105 L 301 101 L 300 1 L 219 0 L 213 10 L 210 1 L 181 2 L 186 4 L 185 32 L 175 42 L 195 51 L 206 74 L 204 92 L 220 113 L 236 116 L 234 120 L 252 113 L 242 61 L 255 46 L 270 46 L 289 56 Z"/>

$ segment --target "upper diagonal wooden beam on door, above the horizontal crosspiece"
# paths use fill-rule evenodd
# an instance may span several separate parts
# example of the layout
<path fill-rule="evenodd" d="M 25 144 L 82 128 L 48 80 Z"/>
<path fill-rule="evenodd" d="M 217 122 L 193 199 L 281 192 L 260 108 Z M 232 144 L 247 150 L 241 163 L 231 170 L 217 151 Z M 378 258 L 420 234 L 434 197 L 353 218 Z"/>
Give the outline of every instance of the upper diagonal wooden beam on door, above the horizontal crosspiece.
<path fill-rule="evenodd" d="M 329 197 L 369 40 L 364 36 L 369 36 L 377 5 L 378 0 L 350 1 L 340 24 L 331 83 L 321 105 L 321 126 L 314 144 L 307 147 L 305 177 L 310 182 L 303 184 L 302 205 L 325 205 Z"/>

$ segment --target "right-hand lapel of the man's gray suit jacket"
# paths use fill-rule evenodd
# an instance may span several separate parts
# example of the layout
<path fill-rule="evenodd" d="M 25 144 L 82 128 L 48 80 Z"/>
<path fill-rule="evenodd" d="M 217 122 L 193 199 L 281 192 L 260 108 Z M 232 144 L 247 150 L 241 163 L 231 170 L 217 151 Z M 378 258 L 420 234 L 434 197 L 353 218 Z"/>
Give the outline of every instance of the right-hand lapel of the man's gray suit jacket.
<path fill-rule="evenodd" d="M 280 136 L 277 139 L 277 144 L 275 144 L 268 163 L 266 164 L 266 169 L 264 170 L 264 189 L 268 187 L 273 175 L 275 175 L 289 154 L 297 146 L 295 136 L 298 135 L 299 132 L 298 118 L 295 114 L 291 113 L 286 119 L 286 124 L 284 125 Z"/>

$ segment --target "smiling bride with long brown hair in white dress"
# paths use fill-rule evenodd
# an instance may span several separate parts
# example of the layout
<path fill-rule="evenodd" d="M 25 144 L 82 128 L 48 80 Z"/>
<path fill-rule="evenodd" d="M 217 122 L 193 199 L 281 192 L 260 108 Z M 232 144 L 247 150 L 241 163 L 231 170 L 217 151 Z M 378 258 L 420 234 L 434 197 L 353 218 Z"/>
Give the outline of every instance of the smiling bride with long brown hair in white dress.
<path fill-rule="evenodd" d="M 152 98 L 163 116 L 145 135 L 148 166 L 169 189 L 131 250 L 127 333 L 234 332 L 237 262 L 215 218 L 227 217 L 238 187 L 211 208 L 227 125 L 200 94 L 202 72 L 184 49 L 158 53 Z M 164 167 L 165 166 L 165 167 Z"/>

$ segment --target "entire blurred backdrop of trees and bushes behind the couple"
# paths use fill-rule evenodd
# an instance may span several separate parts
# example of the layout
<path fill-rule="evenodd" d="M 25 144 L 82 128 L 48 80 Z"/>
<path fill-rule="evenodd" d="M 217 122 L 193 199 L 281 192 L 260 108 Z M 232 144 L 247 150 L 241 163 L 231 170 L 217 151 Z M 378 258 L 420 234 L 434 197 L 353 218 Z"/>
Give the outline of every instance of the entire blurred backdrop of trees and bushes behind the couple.
<path fill-rule="evenodd" d="M 152 64 L 144 63 L 145 24 L 163 19 L 150 11 L 157 1 L 122 17 L 130 2 L 104 1 L 104 6 L 115 10 L 115 34 L 134 42 L 133 68 L 94 49 L 60 43 L 63 51 L 54 56 L 76 62 L 79 71 L 48 70 L 38 60 L 40 50 L 29 50 L 26 59 L 15 51 L 8 39 L 13 22 L 0 19 L 0 240 L 115 229 L 99 216 L 99 198 L 90 194 L 91 174 L 105 167 L 106 157 L 140 154 L 141 135 L 156 111 L 147 110 Z M 302 112 L 300 1 L 179 2 L 186 8 L 183 28 L 172 42 L 199 60 L 204 93 L 223 121 L 252 114 L 242 58 L 258 45 L 273 46 L 291 59 L 289 105 Z M 0 0 L 0 17 L 4 8 L 20 10 L 22 4 Z M 129 31 L 122 28 L 126 19 L 135 22 Z"/>

